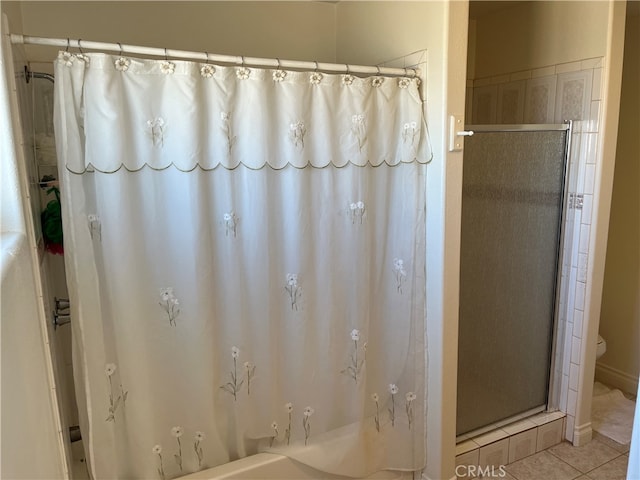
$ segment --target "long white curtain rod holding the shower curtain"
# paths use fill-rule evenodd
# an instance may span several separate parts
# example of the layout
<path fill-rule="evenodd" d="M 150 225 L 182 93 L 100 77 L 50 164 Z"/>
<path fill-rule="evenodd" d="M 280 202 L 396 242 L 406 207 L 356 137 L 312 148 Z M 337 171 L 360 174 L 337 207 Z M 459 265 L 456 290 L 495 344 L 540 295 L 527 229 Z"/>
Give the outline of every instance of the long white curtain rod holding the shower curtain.
<path fill-rule="evenodd" d="M 324 72 L 336 73 L 361 73 L 361 74 L 378 74 L 388 76 L 408 76 L 417 77 L 420 70 L 416 68 L 390 68 L 378 66 L 364 65 L 348 65 L 337 63 L 321 63 L 321 62 L 302 62 L 297 60 L 280 60 L 274 58 L 258 58 L 243 57 L 232 55 L 219 55 L 207 52 L 191 52 L 187 50 L 169 50 L 166 48 L 143 47 L 138 45 L 123 45 L 120 43 L 103 43 L 85 41 L 82 39 L 74 40 L 68 38 L 44 38 L 33 37 L 30 35 L 11 34 L 11 43 L 22 43 L 28 45 L 47 45 L 61 47 L 65 49 L 77 48 L 82 51 L 87 50 L 104 50 L 111 52 L 119 52 L 120 54 L 138 54 L 151 55 L 156 57 L 171 57 L 191 60 L 201 60 L 203 62 L 220 62 L 234 63 L 237 65 L 253 66 L 253 67 L 275 67 L 275 68 L 294 68 L 300 70 L 322 70 Z"/>

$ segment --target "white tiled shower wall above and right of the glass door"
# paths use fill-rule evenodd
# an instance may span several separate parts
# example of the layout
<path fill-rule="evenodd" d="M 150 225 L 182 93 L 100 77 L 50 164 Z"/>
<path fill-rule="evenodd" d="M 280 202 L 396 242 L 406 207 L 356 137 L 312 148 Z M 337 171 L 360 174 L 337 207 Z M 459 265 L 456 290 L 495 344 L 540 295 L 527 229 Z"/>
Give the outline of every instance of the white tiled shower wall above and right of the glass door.
<path fill-rule="evenodd" d="M 560 409 L 566 412 L 565 438 L 573 441 L 580 389 L 580 351 L 586 334 L 589 235 L 598 158 L 603 58 L 552 65 L 467 81 L 468 124 L 562 123 L 573 120 L 560 299 L 559 341 L 555 364 Z"/>

